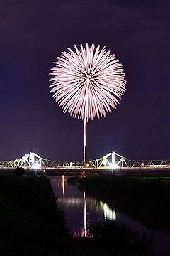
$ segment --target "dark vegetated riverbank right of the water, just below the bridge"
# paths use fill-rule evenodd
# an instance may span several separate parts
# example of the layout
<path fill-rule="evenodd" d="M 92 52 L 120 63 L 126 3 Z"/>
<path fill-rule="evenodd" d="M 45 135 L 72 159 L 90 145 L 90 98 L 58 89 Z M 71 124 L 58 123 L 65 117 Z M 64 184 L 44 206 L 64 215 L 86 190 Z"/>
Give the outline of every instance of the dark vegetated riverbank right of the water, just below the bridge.
<path fill-rule="evenodd" d="M 130 213 L 153 230 L 170 232 L 169 180 L 145 178 L 94 174 L 81 178 L 79 188 L 110 206 Z"/>

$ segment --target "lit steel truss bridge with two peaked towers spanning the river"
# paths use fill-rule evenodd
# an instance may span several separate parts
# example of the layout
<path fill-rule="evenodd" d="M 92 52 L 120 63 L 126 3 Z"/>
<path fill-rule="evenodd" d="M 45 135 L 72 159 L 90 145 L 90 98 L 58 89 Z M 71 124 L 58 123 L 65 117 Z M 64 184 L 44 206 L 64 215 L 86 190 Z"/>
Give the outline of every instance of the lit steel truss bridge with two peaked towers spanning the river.
<path fill-rule="evenodd" d="M 170 159 L 166 160 L 130 160 L 114 151 L 99 159 L 90 161 L 55 161 L 44 159 L 30 152 L 19 159 L 0 161 L 0 169 L 166 169 L 170 170 Z"/>

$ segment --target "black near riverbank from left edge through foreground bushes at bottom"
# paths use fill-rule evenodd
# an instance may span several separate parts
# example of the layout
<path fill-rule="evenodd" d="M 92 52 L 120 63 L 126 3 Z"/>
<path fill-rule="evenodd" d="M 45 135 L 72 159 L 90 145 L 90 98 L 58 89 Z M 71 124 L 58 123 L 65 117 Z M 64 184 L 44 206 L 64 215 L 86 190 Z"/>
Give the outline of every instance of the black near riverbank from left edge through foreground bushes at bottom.
<path fill-rule="evenodd" d="M 73 238 L 45 176 L 0 176 L 0 189 L 0 255 L 152 255 L 150 240 L 115 222 Z"/>

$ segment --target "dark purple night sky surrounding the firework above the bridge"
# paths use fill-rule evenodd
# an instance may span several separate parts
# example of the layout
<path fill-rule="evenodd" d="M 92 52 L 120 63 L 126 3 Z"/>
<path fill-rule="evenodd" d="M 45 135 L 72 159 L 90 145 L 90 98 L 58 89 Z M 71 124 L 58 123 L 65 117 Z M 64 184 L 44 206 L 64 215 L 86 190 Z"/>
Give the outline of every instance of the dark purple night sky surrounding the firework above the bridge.
<path fill-rule="evenodd" d="M 83 121 L 48 88 L 52 62 L 80 43 L 115 53 L 127 80 L 117 110 L 88 122 L 86 159 L 170 159 L 169 14 L 169 0 L 1 0 L 0 159 L 83 159 Z"/>

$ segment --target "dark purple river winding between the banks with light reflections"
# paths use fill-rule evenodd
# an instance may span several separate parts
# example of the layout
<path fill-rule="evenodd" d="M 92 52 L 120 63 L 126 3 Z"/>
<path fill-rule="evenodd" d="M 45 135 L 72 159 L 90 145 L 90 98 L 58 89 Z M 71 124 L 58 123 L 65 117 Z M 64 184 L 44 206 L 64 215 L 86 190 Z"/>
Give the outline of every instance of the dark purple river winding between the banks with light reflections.
<path fill-rule="evenodd" d="M 170 253 L 170 235 L 168 233 L 149 230 L 145 225 L 130 218 L 128 214 L 109 208 L 106 203 L 88 196 L 84 191 L 79 191 L 77 186 L 68 185 L 67 178 L 69 176 L 52 177 L 51 184 L 57 197 L 57 203 L 64 210 L 67 228 L 73 235 L 86 236 L 89 225 L 98 221 L 116 220 L 118 223 L 126 223 L 140 233 L 146 233 L 147 238 L 154 238 L 154 256 L 164 256 Z"/>

